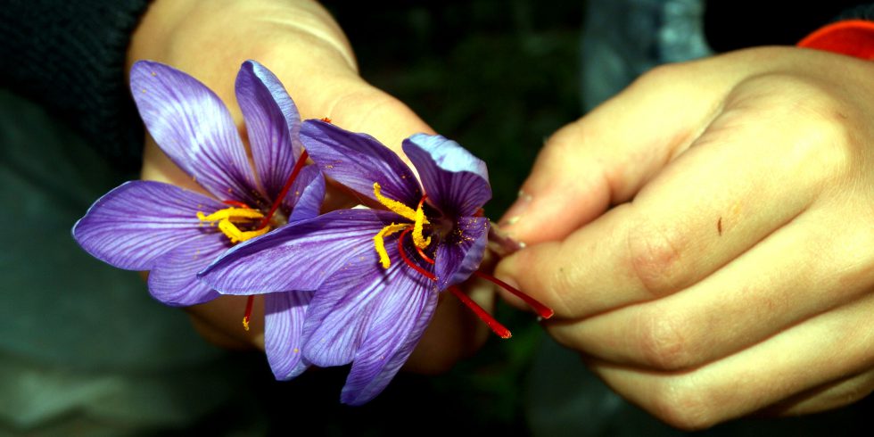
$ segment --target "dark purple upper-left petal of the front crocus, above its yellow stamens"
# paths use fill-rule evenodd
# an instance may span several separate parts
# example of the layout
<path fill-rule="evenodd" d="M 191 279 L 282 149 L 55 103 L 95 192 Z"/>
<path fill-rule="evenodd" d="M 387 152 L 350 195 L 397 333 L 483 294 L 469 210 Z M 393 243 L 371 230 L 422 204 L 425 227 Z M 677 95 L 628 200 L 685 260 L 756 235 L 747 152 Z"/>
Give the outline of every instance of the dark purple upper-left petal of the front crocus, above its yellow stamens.
<path fill-rule="evenodd" d="M 374 182 L 382 194 L 407 205 L 416 205 L 422 191 L 404 161 L 373 136 L 337 128 L 321 120 L 306 120 L 301 141 L 319 169 L 343 186 L 376 200 Z"/>

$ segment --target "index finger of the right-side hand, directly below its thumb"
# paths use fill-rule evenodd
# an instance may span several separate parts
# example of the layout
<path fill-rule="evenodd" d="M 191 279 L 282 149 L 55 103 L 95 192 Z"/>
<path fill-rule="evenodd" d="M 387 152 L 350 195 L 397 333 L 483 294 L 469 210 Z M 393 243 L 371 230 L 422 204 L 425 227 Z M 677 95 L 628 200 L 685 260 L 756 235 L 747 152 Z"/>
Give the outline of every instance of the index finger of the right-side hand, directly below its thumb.
<path fill-rule="evenodd" d="M 805 210 L 845 166 L 831 136 L 840 136 L 836 121 L 772 109 L 786 106 L 783 97 L 762 90 L 788 81 L 767 77 L 739 88 L 694 147 L 633 202 L 561 243 L 516 253 L 499 273 L 557 317 L 584 317 L 664 297 L 735 259 Z M 825 100 L 812 87 L 798 93 Z"/>

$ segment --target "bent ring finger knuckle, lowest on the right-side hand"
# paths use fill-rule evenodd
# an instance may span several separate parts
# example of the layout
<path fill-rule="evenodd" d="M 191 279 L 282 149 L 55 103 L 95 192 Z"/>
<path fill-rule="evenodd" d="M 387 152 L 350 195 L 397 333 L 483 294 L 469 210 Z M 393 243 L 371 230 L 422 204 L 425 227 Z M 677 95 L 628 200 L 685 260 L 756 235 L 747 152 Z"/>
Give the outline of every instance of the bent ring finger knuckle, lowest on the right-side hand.
<path fill-rule="evenodd" d="M 672 378 L 653 393 L 651 412 L 668 425 L 698 431 L 718 422 L 716 401 L 693 378 Z"/>

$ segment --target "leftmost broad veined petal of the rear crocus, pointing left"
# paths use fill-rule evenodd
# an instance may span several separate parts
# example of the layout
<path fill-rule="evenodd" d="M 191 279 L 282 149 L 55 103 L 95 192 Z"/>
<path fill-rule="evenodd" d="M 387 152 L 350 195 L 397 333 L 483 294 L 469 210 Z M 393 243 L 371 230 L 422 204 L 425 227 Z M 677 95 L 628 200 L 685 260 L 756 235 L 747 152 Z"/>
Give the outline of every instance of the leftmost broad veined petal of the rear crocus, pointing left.
<path fill-rule="evenodd" d="M 114 267 L 150 270 L 177 245 L 214 232 L 197 219 L 197 211 L 222 208 L 226 205 L 178 186 L 132 181 L 98 199 L 73 227 L 73 237 Z"/>

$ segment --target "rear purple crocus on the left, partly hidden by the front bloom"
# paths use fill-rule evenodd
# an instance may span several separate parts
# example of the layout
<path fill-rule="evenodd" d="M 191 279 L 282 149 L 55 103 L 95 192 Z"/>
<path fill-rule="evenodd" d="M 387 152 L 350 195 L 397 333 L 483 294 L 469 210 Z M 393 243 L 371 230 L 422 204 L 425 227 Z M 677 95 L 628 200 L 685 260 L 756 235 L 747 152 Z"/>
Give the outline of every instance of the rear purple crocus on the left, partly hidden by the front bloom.
<path fill-rule="evenodd" d="M 254 169 L 227 108 L 195 78 L 141 61 L 130 71 L 130 87 L 155 142 L 206 194 L 128 182 L 95 202 L 73 236 L 112 266 L 150 271 L 149 292 L 161 302 L 210 301 L 219 293 L 197 272 L 235 243 L 315 217 L 324 179 L 315 166 L 303 168 L 300 115 L 279 80 L 257 62 L 244 62 L 235 84 Z M 286 318 L 301 317 L 308 299 L 306 293 L 265 298 L 268 359 L 290 335 Z"/>

